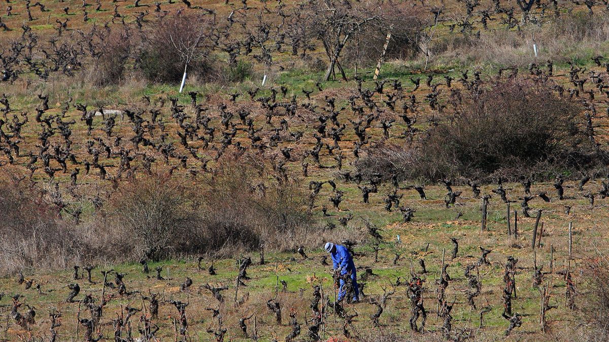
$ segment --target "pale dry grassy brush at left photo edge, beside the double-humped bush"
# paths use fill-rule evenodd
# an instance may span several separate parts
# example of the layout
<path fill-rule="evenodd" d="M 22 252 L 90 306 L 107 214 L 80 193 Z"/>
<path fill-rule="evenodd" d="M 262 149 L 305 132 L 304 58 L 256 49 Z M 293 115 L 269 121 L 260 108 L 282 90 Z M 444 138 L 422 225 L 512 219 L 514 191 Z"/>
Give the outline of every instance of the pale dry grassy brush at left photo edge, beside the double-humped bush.
<path fill-rule="evenodd" d="M 0 274 L 28 268 L 65 268 L 74 263 L 123 262 L 137 255 L 132 231 L 121 229 L 103 215 L 74 223 L 67 207 L 59 212 L 53 203 L 56 190 L 49 184 L 43 186 L 48 189 L 39 189 L 25 180 L 0 183 Z M 85 205 L 69 204 L 80 208 Z"/>

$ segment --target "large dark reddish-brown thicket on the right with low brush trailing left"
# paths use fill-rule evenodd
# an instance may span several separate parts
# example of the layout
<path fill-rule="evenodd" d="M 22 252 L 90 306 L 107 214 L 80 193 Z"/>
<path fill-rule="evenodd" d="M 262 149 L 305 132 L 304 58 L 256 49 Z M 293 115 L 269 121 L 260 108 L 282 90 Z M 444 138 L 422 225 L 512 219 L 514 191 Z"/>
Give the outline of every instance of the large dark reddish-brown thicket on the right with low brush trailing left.
<path fill-rule="evenodd" d="M 602 166 L 605 153 L 591 138 L 583 108 L 551 85 L 504 80 L 457 94 L 436 127 L 405 147 L 381 143 L 357 167 L 365 174 L 437 180 L 518 180 Z"/>

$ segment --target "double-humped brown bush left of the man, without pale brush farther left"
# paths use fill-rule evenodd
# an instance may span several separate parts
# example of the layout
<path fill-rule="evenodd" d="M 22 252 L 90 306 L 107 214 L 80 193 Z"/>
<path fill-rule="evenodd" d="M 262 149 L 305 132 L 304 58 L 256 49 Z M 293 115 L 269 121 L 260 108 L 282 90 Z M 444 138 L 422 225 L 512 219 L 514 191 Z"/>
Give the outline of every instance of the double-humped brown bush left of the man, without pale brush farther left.
<path fill-rule="evenodd" d="M 133 248 L 124 257 L 234 256 L 261 242 L 267 250 L 321 243 L 312 238 L 322 229 L 311 225 L 297 183 L 264 181 L 244 159 L 227 158 L 213 176 L 188 187 L 164 175 L 122 184 L 106 210 L 115 229 L 130 235 L 122 243 Z"/>

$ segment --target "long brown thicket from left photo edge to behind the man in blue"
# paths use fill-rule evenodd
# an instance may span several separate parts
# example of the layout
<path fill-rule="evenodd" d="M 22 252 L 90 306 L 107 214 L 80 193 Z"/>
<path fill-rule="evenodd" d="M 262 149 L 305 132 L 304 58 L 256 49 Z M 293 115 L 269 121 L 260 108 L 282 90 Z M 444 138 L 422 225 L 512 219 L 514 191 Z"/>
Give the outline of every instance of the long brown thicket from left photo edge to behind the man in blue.
<path fill-rule="evenodd" d="M 41 191 L 26 180 L 4 182 L 0 272 L 142 257 L 230 257 L 262 244 L 272 252 L 357 240 L 356 229 L 323 228 L 294 181 L 276 180 L 262 164 L 231 158 L 220 164 L 197 184 L 165 173 L 121 182 L 108 201 L 86 208 L 78 221 L 54 205 L 54 190 Z"/>

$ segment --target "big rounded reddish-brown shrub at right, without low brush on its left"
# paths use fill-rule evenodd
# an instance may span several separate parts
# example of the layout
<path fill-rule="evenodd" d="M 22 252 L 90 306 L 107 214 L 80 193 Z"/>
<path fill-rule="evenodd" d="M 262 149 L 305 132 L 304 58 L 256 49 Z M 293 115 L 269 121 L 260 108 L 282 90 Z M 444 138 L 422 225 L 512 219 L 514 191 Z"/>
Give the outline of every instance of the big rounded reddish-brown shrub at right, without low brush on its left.
<path fill-rule="evenodd" d="M 429 131 L 421 162 L 433 173 L 467 177 L 544 161 L 573 166 L 592 151 L 580 130 L 581 110 L 546 85 L 498 82 L 468 94 L 453 122 Z"/>

